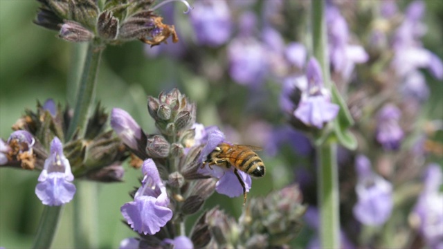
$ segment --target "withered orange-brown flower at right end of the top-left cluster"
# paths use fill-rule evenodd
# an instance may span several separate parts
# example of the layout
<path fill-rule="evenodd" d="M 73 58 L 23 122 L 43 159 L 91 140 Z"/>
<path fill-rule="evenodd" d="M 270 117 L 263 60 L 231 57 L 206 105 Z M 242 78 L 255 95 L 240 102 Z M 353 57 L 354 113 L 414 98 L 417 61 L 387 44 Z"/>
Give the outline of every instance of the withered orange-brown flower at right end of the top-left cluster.
<path fill-rule="evenodd" d="M 148 38 L 142 37 L 140 38 L 141 42 L 145 44 L 150 44 L 152 46 L 156 46 L 164 42 L 168 44 L 166 39 L 172 36 L 172 42 L 179 42 L 179 36 L 175 32 L 174 25 L 163 24 L 163 17 L 152 17 L 154 23 L 154 30 L 148 35 Z"/>

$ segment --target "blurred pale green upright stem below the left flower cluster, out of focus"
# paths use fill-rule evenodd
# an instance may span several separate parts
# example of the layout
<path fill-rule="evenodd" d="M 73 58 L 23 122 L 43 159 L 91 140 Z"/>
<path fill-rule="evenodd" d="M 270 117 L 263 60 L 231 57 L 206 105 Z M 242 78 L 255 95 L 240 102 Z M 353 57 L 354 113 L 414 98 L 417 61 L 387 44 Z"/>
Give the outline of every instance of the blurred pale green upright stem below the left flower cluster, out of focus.
<path fill-rule="evenodd" d="M 77 182 L 74 199 L 75 248 L 98 248 L 98 183 Z"/>

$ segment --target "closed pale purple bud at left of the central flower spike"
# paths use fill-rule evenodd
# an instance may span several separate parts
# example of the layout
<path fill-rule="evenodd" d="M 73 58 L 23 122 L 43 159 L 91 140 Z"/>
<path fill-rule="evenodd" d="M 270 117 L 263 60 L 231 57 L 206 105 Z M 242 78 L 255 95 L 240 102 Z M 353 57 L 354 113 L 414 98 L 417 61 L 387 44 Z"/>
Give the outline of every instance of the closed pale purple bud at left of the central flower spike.
<path fill-rule="evenodd" d="M 111 127 L 125 145 L 131 149 L 138 148 L 137 140 L 141 139 L 143 131 L 129 113 L 119 108 L 112 109 Z"/>

